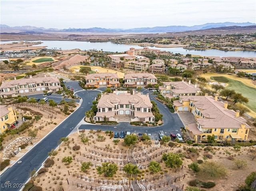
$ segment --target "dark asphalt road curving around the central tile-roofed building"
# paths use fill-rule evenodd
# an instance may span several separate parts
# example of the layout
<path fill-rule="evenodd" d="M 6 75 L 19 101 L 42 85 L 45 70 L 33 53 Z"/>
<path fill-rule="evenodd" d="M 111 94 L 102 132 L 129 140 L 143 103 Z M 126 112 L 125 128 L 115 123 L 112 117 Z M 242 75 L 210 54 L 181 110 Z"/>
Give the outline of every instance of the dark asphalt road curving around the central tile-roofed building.
<path fill-rule="evenodd" d="M 73 84 L 76 87 L 76 84 Z M 77 84 L 77 88 L 79 85 Z M 149 93 L 150 100 L 154 100 L 160 113 L 163 114 L 164 124 L 158 127 L 139 127 L 131 126 L 128 122 L 120 122 L 116 126 L 105 126 L 105 125 L 94 125 L 86 124 L 82 122 L 80 129 L 101 129 L 101 130 L 112 130 L 112 131 L 130 131 L 130 132 L 147 132 L 151 134 L 157 134 L 160 130 L 170 133 L 180 133 L 180 127 L 184 126 L 178 116 L 178 114 L 171 113 L 166 106 L 154 99 L 155 95 L 151 95 L 147 89 L 141 90 L 143 94 Z M 70 132 L 76 131 L 74 129 L 80 121 L 83 121 L 84 113 L 90 110 L 90 106 L 94 98 L 97 96 L 99 91 L 88 90 L 79 91 L 77 95 L 82 98 L 80 107 L 73 112 L 66 120 L 59 124 L 52 132 L 50 132 L 44 139 L 36 144 L 28 153 L 19 159 L 20 163 L 16 162 L 9 167 L 1 176 L 0 183 L 1 191 L 16 191 L 20 188 L 14 188 L 14 185 L 18 183 L 25 183 L 30 178 L 30 172 L 35 168 L 38 170 L 44 160 L 48 157 L 48 152 L 52 148 L 57 148 L 58 140 L 62 137 L 68 136 Z M 80 123 L 81 124 L 81 123 Z M 9 184 L 5 184 L 6 181 L 10 181 Z"/>

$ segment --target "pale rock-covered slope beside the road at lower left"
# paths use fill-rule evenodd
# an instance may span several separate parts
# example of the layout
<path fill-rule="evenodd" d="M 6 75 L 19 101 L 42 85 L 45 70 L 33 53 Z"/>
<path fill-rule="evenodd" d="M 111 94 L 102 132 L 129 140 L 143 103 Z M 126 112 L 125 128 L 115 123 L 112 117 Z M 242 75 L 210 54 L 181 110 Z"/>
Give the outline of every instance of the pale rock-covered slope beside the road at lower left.
<path fill-rule="evenodd" d="M 3 151 L 3 160 L 7 160 L 12 156 L 12 153 L 15 150 L 18 150 L 20 146 L 24 144 L 29 144 L 32 142 L 32 140 L 35 140 L 37 138 L 34 137 L 18 137 L 13 142 L 8 144 L 8 146 Z"/>

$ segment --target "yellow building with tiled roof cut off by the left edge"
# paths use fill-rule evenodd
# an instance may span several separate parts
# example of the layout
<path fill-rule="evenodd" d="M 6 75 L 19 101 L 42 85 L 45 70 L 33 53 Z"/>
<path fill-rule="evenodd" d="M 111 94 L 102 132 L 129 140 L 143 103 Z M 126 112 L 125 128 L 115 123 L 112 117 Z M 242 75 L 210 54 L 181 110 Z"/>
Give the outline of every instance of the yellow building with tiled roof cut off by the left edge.
<path fill-rule="evenodd" d="M 8 127 L 16 123 L 17 116 L 15 108 L 6 105 L 0 105 L 0 118 L 0 133 L 3 133 L 6 131 L 6 129 L 8 129 Z"/>

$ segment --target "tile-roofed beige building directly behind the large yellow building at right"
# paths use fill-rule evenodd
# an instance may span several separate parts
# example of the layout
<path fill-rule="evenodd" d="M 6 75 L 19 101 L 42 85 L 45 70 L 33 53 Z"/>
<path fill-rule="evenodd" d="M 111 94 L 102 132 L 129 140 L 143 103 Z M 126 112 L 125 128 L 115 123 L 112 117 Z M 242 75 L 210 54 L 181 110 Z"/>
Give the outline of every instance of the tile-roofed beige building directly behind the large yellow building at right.
<path fill-rule="evenodd" d="M 162 86 L 159 87 L 160 93 L 164 97 L 174 98 L 179 96 L 196 96 L 202 95 L 202 91 L 197 85 L 191 84 L 191 81 L 185 82 L 164 82 Z"/>

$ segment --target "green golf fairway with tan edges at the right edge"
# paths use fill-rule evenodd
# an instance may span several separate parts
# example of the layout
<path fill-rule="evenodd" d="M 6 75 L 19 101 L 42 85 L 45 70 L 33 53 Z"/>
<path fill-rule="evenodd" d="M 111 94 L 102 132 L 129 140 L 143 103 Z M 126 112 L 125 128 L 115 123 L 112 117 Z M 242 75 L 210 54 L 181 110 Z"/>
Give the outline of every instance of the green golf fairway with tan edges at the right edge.
<path fill-rule="evenodd" d="M 256 88 L 249 87 L 238 80 L 229 79 L 224 76 L 212 76 L 211 80 L 227 83 L 228 86 L 226 88 L 233 89 L 237 93 L 242 93 L 243 96 L 249 99 L 248 103 L 244 105 L 250 108 L 252 111 L 256 112 Z"/>

